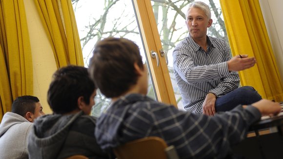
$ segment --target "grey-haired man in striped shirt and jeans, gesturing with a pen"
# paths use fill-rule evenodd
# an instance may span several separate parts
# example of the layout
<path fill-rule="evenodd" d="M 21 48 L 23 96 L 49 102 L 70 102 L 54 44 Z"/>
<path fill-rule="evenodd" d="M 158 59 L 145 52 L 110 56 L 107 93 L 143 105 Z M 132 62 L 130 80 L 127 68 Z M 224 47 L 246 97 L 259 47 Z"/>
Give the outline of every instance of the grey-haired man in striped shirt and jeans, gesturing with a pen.
<path fill-rule="evenodd" d="M 184 109 L 214 116 L 238 104 L 262 99 L 250 87 L 239 87 L 241 71 L 255 65 L 255 58 L 238 55 L 231 59 L 224 40 L 208 37 L 212 24 L 208 5 L 201 1 L 189 4 L 186 13 L 188 36 L 173 51 L 173 70 L 181 92 Z"/>

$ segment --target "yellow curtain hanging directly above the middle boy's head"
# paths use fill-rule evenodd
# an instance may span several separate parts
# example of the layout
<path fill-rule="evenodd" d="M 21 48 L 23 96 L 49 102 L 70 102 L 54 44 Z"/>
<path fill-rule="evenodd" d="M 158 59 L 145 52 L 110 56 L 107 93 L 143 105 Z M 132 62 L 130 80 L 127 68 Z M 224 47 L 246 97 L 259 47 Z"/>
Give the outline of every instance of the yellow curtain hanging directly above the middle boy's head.
<path fill-rule="evenodd" d="M 82 65 L 82 51 L 71 0 L 35 0 L 57 67 Z"/>

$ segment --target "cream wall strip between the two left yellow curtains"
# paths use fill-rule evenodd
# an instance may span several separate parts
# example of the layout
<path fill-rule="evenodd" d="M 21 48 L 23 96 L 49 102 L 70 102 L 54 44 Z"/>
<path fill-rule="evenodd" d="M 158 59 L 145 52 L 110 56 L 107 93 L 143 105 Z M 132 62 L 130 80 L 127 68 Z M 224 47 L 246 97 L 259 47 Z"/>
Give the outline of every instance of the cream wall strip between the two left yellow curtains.
<path fill-rule="evenodd" d="M 50 42 L 40 20 L 34 0 L 24 0 L 33 59 L 34 96 L 40 99 L 45 114 L 52 113 L 47 103 L 47 91 L 57 70 Z"/>

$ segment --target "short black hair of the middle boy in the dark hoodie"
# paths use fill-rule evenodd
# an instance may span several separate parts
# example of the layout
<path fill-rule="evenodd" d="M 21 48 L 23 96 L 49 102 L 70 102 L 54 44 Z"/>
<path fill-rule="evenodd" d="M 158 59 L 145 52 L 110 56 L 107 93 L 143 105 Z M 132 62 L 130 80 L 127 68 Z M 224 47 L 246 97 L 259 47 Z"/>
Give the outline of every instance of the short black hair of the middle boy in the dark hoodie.
<path fill-rule="evenodd" d="M 90 79 L 87 68 L 68 65 L 53 74 L 47 101 L 54 113 L 69 113 L 78 108 L 78 99 L 83 97 L 86 104 L 96 89 Z"/>

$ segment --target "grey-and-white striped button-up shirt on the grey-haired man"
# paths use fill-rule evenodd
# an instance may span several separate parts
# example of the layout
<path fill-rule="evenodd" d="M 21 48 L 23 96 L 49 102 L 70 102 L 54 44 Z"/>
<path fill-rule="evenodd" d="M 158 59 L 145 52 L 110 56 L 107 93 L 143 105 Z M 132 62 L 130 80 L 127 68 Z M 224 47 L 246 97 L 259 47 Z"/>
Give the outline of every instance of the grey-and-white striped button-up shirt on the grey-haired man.
<path fill-rule="evenodd" d="M 221 97 L 239 87 L 238 72 L 228 71 L 229 48 L 222 39 L 207 36 L 205 52 L 188 34 L 173 51 L 173 70 L 184 109 L 202 113 L 208 93 Z"/>

